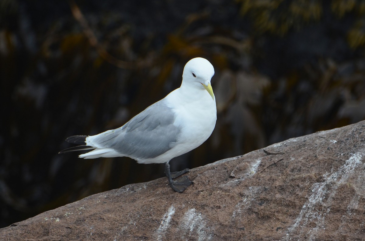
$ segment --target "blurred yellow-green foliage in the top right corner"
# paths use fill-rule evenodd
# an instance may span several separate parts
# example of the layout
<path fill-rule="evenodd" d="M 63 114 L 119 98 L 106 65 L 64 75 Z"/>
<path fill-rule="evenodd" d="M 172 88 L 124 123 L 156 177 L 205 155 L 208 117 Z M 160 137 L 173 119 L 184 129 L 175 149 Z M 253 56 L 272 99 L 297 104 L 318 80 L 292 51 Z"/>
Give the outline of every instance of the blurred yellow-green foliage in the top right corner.
<path fill-rule="evenodd" d="M 328 14 L 339 18 L 351 16 L 355 21 L 348 31 L 351 47 L 364 44 L 365 2 L 362 0 L 236 0 L 241 3 L 241 15 L 250 15 L 258 34 L 270 32 L 280 36 L 291 29 L 299 30 Z M 328 11 L 331 12 L 329 13 Z M 325 16 L 323 16 L 325 15 Z"/>

